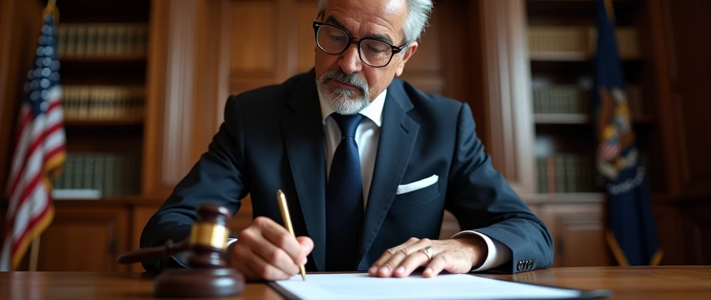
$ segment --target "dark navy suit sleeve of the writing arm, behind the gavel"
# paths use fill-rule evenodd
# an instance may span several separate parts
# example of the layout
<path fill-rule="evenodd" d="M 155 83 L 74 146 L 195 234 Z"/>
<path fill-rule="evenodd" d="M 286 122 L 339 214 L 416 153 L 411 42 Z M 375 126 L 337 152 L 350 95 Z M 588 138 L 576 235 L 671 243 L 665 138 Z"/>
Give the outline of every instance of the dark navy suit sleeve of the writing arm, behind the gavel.
<path fill-rule="evenodd" d="M 179 242 L 190 235 L 203 203 L 217 203 L 232 215 L 240 208 L 240 199 L 249 192 L 245 177 L 244 127 L 240 103 L 230 97 L 225 106 L 225 122 L 198 162 L 176 185 L 173 193 L 151 217 L 141 233 L 141 248 L 161 246 L 167 240 Z M 184 254 L 141 262 L 148 272 L 168 267 L 185 267 Z"/>

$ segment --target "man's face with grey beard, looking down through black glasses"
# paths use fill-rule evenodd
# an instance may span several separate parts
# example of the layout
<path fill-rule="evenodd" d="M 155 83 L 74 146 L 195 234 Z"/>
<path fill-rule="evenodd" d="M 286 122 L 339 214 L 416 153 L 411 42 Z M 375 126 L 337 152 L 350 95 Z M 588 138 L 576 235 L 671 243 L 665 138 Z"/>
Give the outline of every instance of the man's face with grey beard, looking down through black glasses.
<path fill-rule="evenodd" d="M 355 39 L 375 38 L 397 47 L 405 44 L 402 26 L 407 18 L 407 0 L 331 0 L 320 21 L 340 28 Z M 363 51 L 368 50 L 363 45 Z M 372 50 L 372 49 L 371 49 Z M 400 76 L 405 62 L 417 50 L 417 42 L 407 52 L 395 53 L 390 63 L 375 68 L 363 63 L 358 45 L 331 55 L 316 45 L 316 83 L 321 97 L 341 114 L 355 114 L 375 100 L 392 78 Z"/>

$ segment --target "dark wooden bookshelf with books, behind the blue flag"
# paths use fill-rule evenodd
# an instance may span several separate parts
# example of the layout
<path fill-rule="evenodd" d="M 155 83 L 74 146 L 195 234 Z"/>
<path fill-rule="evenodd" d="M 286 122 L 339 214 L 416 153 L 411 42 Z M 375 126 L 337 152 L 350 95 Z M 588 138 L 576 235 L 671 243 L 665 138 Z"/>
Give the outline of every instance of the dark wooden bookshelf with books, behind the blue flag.
<path fill-rule="evenodd" d="M 652 191 L 663 193 L 661 158 L 655 147 L 658 117 L 654 82 L 648 77 L 645 51 L 646 4 L 643 0 L 612 1 L 616 38 L 626 79 L 633 126 L 650 174 Z M 597 184 L 597 149 L 592 117 L 594 55 L 597 44 L 596 0 L 527 0 L 528 59 L 535 126 L 538 193 L 604 195 Z M 649 165 L 649 161 L 658 163 Z M 558 196 L 560 198 L 560 196 Z M 565 197 L 564 197 L 565 198 Z"/>

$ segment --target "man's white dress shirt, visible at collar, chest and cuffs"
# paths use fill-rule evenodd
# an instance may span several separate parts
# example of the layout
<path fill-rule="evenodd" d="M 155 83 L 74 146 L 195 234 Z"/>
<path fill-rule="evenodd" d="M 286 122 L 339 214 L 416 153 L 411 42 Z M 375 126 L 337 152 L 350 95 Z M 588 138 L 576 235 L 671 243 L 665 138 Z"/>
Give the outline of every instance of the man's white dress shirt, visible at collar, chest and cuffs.
<path fill-rule="evenodd" d="M 375 157 L 378 156 L 378 141 L 380 141 L 380 125 L 383 124 L 383 106 L 385 105 L 385 95 L 387 89 L 383 90 L 378 97 L 375 97 L 370 105 L 360 111 L 364 118 L 360 120 L 358 128 L 355 129 L 355 144 L 358 145 L 358 154 L 360 156 L 360 174 L 363 177 L 363 203 L 368 205 L 368 193 L 370 192 L 370 183 L 373 182 L 373 170 L 375 169 Z M 319 95 L 321 102 L 321 117 L 324 124 L 324 136 L 326 138 L 326 178 L 331 173 L 331 161 L 333 154 L 336 152 L 338 143 L 341 142 L 341 129 L 338 128 L 336 120 L 331 117 L 333 109 L 326 104 Z M 493 240 L 482 233 L 474 230 L 465 230 L 457 233 L 453 237 L 460 235 L 476 234 L 483 238 L 486 242 L 488 255 L 481 267 L 472 269 L 472 271 L 485 271 L 500 266 L 511 258 L 511 251 L 497 240 Z M 236 239 L 228 240 L 228 245 Z"/>

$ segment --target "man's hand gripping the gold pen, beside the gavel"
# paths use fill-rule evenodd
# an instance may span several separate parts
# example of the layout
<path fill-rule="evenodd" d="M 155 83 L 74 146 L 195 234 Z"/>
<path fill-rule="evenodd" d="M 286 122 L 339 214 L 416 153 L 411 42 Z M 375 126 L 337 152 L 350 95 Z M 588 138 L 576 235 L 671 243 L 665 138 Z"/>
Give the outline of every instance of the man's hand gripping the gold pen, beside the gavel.
<path fill-rule="evenodd" d="M 309 237 L 294 238 L 274 220 L 259 217 L 230 245 L 228 264 L 248 280 L 289 279 L 313 249 Z"/>

